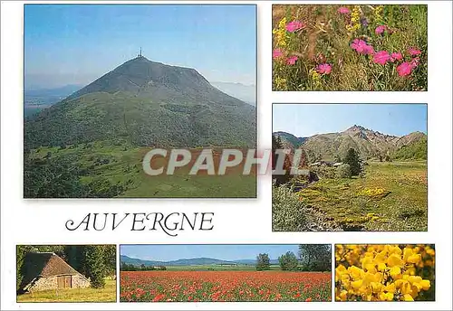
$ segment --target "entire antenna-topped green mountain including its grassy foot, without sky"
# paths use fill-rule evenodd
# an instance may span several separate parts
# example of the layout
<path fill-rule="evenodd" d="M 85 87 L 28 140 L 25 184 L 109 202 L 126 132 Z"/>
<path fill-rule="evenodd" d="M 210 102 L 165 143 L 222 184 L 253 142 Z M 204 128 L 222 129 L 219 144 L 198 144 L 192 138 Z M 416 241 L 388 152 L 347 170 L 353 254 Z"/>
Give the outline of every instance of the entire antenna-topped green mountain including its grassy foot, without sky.
<path fill-rule="evenodd" d="M 255 148 L 255 119 L 254 107 L 193 69 L 126 61 L 25 119 L 24 197 L 255 197 L 252 174 L 188 176 L 185 167 L 150 178 L 142 169 L 152 147 L 187 147 L 194 157 L 200 147 L 215 156 Z"/>

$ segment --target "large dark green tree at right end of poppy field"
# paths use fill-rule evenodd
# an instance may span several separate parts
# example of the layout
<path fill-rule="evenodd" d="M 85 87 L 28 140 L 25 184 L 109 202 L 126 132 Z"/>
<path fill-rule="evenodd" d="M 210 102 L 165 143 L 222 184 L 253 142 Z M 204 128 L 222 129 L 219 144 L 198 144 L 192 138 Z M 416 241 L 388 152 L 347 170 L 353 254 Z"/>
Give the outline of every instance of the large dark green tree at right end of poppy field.
<path fill-rule="evenodd" d="M 330 271 L 332 269 L 332 253 L 329 244 L 301 244 L 299 257 L 305 270 Z"/>

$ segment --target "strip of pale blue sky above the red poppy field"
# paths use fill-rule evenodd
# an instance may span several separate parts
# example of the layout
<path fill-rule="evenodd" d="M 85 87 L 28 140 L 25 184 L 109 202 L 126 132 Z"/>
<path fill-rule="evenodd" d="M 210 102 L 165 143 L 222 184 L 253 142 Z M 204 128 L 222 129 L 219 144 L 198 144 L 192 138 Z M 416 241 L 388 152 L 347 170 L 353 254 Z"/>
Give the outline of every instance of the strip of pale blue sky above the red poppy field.
<path fill-rule="evenodd" d="M 297 256 L 298 245 L 121 245 L 120 254 L 131 258 L 159 261 L 193 259 L 207 257 L 213 259 L 235 260 L 255 259 L 259 253 L 269 254 L 277 259 L 286 251 Z"/>

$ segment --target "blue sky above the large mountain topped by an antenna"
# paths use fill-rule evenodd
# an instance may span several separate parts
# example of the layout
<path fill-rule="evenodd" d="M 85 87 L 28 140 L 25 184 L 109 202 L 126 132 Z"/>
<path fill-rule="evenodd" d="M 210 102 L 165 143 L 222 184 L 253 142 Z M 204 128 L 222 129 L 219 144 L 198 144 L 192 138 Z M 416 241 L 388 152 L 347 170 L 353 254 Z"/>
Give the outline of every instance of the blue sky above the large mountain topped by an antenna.
<path fill-rule="evenodd" d="M 25 87 L 86 84 L 137 56 L 255 84 L 255 5 L 25 5 Z"/>

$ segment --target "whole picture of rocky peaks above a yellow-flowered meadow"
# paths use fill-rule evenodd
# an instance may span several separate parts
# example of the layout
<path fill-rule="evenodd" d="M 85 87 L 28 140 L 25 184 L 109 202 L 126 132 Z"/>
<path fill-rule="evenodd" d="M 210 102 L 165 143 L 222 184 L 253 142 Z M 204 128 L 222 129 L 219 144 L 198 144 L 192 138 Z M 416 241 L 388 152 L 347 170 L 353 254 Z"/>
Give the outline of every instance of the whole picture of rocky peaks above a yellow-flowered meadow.
<path fill-rule="evenodd" d="M 428 231 L 426 104 L 274 104 L 273 231 Z"/>

